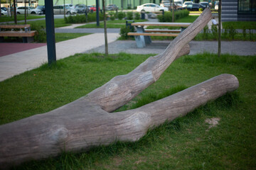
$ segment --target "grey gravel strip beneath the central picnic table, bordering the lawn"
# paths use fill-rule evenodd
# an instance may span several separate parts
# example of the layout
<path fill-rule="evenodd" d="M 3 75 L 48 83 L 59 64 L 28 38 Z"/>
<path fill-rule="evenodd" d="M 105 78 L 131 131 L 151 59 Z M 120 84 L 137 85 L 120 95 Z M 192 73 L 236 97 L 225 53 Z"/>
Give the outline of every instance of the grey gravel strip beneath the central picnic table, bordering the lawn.
<path fill-rule="evenodd" d="M 150 45 L 143 48 L 138 48 L 135 40 L 117 40 L 109 43 L 109 53 L 127 52 L 131 54 L 160 54 L 164 52 L 171 41 L 157 41 L 154 40 Z M 189 42 L 191 47 L 190 55 L 195 55 L 202 52 L 218 53 L 218 41 L 191 41 Z M 222 41 L 221 53 L 233 54 L 233 55 L 256 55 L 256 42 L 250 41 Z M 92 50 L 86 51 L 92 52 L 105 52 L 105 46 L 96 47 Z"/>

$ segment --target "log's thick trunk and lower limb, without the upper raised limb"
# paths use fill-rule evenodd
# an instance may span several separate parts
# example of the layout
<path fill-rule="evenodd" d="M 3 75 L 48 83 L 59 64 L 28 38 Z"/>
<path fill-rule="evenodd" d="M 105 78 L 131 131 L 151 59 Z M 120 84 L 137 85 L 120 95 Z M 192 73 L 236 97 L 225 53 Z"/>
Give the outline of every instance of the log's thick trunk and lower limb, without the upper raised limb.
<path fill-rule="evenodd" d="M 0 166 L 56 156 L 62 151 L 81 152 L 117 140 L 139 140 L 149 128 L 186 115 L 238 86 L 235 76 L 221 74 L 159 101 L 119 113 L 107 113 L 88 98 L 80 98 L 49 113 L 2 125 Z"/>

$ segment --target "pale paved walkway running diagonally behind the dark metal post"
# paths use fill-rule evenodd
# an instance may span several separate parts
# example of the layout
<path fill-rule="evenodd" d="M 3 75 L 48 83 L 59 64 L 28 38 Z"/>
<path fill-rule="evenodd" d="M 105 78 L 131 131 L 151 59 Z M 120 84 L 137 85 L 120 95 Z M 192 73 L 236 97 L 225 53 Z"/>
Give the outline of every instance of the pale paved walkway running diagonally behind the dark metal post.
<path fill-rule="evenodd" d="M 119 37 L 118 33 L 108 33 L 109 43 L 114 42 Z M 72 40 L 56 43 L 57 60 L 86 52 L 95 47 L 105 44 L 104 33 L 95 33 Z M 21 74 L 28 70 L 41 66 L 48 62 L 47 46 L 36 47 L 31 50 L 16 52 L 11 55 L 0 57 L 0 81 L 4 81 L 16 74 Z"/>

